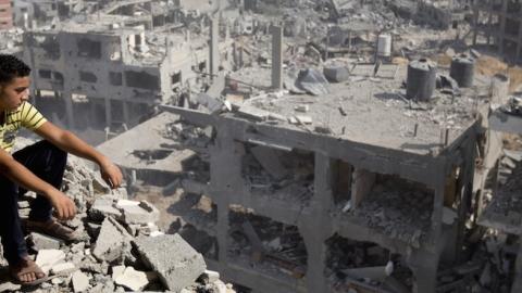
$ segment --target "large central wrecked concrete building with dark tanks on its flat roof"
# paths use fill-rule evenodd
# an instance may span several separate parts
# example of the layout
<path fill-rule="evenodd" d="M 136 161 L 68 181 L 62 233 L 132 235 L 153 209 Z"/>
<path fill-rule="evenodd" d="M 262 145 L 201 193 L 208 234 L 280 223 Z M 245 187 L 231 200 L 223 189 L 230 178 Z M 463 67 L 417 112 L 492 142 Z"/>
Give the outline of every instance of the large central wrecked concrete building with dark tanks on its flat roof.
<path fill-rule="evenodd" d="M 200 94 L 197 110 L 162 106 L 175 115 L 100 150 L 130 169 L 185 169 L 173 183 L 185 195 L 170 207 L 185 225 L 174 231 L 252 292 L 473 286 L 482 265 L 467 263 L 468 225 L 500 155 L 487 113 L 504 91 L 492 92 L 492 80 L 473 71 L 425 59 L 291 74 L 283 71 L 283 29 L 271 31 L 271 69 L 232 73 L 220 90 Z M 464 56 L 453 63 L 474 66 Z M 142 142 L 117 154 L 151 129 L 163 148 Z M 176 143 L 164 149 L 170 139 Z"/>

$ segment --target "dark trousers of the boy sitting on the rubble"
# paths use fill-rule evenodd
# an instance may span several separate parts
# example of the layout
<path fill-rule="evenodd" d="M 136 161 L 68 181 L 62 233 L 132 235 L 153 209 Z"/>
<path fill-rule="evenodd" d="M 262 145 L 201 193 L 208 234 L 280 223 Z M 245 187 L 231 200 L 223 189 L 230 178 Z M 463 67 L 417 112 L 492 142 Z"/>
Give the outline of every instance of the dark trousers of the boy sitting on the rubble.
<path fill-rule="evenodd" d="M 37 177 L 57 189 L 62 184 L 67 153 L 46 140 L 39 141 L 13 154 L 13 157 Z M 27 255 L 27 247 L 18 216 L 18 195 L 26 190 L 0 175 L 0 237 L 3 256 L 14 265 Z M 30 202 L 29 219 L 47 221 L 51 218 L 52 205 L 40 194 Z"/>

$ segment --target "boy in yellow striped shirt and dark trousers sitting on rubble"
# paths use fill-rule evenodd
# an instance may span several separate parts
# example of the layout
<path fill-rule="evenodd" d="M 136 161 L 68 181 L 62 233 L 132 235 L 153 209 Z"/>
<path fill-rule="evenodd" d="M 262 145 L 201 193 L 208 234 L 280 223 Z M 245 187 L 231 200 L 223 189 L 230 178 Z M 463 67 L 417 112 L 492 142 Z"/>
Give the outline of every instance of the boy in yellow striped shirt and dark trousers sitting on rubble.
<path fill-rule="evenodd" d="M 60 191 L 67 152 L 98 164 L 111 188 L 120 187 L 122 173 L 109 158 L 75 135 L 48 122 L 27 102 L 30 68 L 12 55 L 0 54 L 0 237 L 10 273 L 22 284 L 46 277 L 29 259 L 18 217 L 18 194 L 37 193 L 25 222 L 28 230 L 74 241 L 73 230 L 59 220 L 72 219 L 74 202 Z M 21 127 L 45 140 L 10 154 Z"/>

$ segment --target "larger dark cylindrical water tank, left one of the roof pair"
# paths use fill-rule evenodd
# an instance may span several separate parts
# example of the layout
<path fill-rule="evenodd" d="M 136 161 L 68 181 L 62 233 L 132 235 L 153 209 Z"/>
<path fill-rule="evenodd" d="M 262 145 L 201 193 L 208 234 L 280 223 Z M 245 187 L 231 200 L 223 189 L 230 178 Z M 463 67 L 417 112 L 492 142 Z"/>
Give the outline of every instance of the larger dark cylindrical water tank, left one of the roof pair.
<path fill-rule="evenodd" d="M 406 81 L 406 97 L 408 99 L 427 101 L 435 91 L 437 77 L 437 64 L 420 59 L 408 64 L 408 77 Z"/>

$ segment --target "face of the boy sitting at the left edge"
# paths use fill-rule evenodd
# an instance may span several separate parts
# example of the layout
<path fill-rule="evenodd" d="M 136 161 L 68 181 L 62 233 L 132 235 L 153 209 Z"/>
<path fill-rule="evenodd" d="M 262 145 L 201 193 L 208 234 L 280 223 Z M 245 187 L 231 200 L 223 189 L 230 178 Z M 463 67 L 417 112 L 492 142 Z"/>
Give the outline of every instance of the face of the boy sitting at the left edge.
<path fill-rule="evenodd" d="M 14 77 L 11 81 L 0 84 L 0 110 L 16 110 L 29 99 L 29 77 Z"/>

